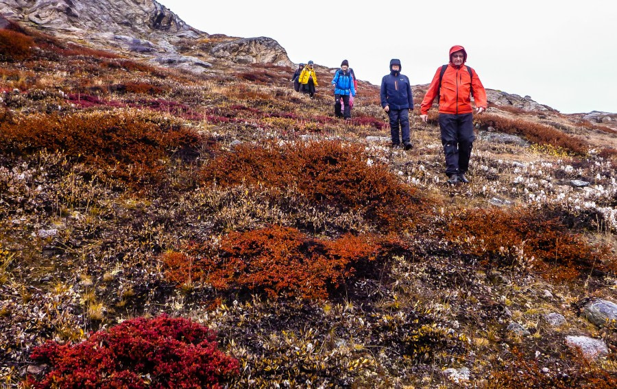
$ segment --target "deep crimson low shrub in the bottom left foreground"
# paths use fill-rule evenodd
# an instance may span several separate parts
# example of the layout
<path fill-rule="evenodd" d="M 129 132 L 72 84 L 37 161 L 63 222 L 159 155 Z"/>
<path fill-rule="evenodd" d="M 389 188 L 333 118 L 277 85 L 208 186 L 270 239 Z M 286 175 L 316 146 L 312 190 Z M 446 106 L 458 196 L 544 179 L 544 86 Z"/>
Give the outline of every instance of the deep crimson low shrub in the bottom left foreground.
<path fill-rule="evenodd" d="M 184 318 L 134 318 L 78 344 L 47 342 L 30 357 L 49 371 L 43 388 L 224 388 L 239 363 L 216 334 Z"/>

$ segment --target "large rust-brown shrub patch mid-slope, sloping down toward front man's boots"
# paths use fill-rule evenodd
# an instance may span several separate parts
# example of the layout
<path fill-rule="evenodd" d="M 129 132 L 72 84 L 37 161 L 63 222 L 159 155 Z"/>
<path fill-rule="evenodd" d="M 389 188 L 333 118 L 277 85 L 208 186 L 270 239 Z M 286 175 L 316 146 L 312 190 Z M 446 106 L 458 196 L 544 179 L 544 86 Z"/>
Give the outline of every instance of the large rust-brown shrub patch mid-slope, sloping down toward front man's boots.
<path fill-rule="evenodd" d="M 411 227 L 426 206 L 415 189 L 403 184 L 385 164 L 368 163 L 361 145 L 309 142 L 265 147 L 241 145 L 221 153 L 202 170 L 206 184 L 263 184 L 295 188 L 316 205 L 353 210 L 385 229 Z"/>

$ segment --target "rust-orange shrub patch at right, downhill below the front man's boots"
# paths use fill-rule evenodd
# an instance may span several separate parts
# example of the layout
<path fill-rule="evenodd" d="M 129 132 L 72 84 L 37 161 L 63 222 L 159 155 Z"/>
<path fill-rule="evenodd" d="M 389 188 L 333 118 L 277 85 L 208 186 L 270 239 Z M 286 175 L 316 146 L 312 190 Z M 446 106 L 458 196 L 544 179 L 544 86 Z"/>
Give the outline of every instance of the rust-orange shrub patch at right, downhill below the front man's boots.
<path fill-rule="evenodd" d="M 607 254 L 604 247 L 592 247 L 570 233 L 557 218 L 522 210 L 466 210 L 450 221 L 448 238 L 487 262 L 509 265 L 524 260 L 557 281 L 602 270 L 601 258 Z"/>

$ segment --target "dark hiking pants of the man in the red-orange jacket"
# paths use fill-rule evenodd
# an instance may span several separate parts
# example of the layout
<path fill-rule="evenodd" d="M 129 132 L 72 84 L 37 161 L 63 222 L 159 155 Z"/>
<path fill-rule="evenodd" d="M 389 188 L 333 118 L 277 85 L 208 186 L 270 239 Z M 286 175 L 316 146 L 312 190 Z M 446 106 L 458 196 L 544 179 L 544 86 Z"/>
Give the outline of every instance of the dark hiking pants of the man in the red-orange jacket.
<path fill-rule="evenodd" d="M 439 114 L 441 145 L 446 154 L 446 175 L 467 173 L 476 136 L 472 114 Z"/>

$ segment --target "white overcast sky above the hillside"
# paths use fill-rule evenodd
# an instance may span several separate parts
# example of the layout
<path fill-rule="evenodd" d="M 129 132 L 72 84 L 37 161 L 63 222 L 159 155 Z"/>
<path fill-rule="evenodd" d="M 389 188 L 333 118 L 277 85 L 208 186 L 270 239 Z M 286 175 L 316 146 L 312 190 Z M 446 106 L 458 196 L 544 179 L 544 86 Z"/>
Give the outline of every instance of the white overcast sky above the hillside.
<path fill-rule="evenodd" d="M 563 113 L 617 112 L 617 1 L 157 0 L 208 34 L 268 36 L 291 61 L 380 84 L 391 58 L 428 84 L 463 45 L 486 88 Z"/>

